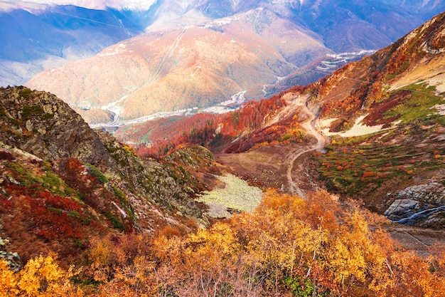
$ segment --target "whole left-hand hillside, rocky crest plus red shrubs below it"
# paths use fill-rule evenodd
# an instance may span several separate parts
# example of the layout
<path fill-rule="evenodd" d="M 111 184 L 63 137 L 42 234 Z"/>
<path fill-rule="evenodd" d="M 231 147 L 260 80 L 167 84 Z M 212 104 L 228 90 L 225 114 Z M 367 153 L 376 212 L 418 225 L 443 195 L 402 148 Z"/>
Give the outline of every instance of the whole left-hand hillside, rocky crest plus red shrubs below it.
<path fill-rule="evenodd" d="M 90 129 L 50 93 L 0 88 L 0 103 L 0 232 L 24 260 L 78 255 L 93 234 L 208 224 L 194 197 L 214 183 L 204 172 L 218 168 L 204 148 L 182 155 L 199 162 L 205 184 L 188 173 L 191 165 L 141 158 Z"/>

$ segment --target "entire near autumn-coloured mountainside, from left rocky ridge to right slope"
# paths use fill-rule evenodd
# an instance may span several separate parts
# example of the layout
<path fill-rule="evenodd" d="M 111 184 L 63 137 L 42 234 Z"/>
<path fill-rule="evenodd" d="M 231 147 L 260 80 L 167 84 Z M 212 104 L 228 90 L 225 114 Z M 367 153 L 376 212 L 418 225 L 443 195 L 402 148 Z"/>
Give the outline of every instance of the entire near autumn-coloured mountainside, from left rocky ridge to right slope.
<path fill-rule="evenodd" d="M 444 296 L 444 23 L 135 149 L 0 88 L 0 294 Z"/>

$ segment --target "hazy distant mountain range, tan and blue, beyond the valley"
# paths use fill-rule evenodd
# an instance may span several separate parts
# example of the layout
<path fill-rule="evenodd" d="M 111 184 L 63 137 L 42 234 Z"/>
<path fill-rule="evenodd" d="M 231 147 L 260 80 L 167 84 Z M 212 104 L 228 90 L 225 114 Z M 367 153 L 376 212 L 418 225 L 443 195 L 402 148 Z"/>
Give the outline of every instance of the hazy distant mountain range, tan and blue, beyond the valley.
<path fill-rule="evenodd" d="M 1 84 L 47 69 L 27 85 L 55 93 L 89 123 L 208 107 L 240 92 L 267 98 L 344 65 L 326 54 L 382 48 L 445 9 L 441 1 L 55 3 L 68 1 L 4 4 Z"/>

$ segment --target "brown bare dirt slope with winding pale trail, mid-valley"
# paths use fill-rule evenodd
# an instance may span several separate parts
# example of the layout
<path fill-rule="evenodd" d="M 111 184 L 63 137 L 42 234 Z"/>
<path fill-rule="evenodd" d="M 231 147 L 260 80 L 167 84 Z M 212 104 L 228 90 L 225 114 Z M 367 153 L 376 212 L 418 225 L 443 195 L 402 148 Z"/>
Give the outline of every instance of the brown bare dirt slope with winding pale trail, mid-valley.
<path fill-rule="evenodd" d="M 240 154 L 215 155 L 217 161 L 227 165 L 232 173 L 262 184 L 265 187 L 276 187 L 284 192 L 305 197 L 306 191 L 315 189 L 306 173 L 307 153 L 321 150 L 330 142 L 329 138 L 316 130 L 316 115 L 306 106 L 308 96 L 292 93 L 284 95 L 288 105 L 264 126 L 274 125 L 284 118 L 289 118 L 299 111 L 303 120 L 300 125 L 308 135 L 316 140 L 311 143 L 289 143 L 287 145 L 270 145 L 258 147 Z"/>

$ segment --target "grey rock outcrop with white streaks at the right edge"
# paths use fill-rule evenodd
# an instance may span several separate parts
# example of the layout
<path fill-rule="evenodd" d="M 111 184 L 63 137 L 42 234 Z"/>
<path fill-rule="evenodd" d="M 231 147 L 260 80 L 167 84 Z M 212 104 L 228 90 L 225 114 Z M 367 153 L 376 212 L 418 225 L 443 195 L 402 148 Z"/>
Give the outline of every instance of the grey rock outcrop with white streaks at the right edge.
<path fill-rule="evenodd" d="M 385 211 L 393 222 L 410 226 L 437 227 L 445 224 L 445 185 L 419 184 L 388 193 L 395 201 Z"/>

